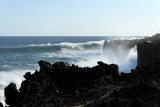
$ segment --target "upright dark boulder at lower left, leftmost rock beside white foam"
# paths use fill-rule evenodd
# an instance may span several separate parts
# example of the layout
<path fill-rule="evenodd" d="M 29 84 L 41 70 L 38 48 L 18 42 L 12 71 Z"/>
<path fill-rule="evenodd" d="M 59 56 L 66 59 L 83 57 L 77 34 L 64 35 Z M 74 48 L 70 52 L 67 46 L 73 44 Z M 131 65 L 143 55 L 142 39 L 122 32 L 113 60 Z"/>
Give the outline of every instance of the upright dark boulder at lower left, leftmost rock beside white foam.
<path fill-rule="evenodd" d="M 16 84 L 10 83 L 5 89 L 4 93 L 6 96 L 6 103 L 8 105 L 15 106 L 18 104 L 19 92 L 17 90 Z"/>

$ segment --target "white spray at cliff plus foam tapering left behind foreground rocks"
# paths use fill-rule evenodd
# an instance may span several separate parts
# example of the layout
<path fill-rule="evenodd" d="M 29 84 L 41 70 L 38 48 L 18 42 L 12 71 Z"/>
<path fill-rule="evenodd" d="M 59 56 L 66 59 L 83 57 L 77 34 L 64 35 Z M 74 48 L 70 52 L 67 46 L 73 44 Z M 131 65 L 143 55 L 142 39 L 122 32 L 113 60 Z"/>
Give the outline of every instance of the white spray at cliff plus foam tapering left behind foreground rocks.
<path fill-rule="evenodd" d="M 94 54 L 88 57 L 85 61 L 80 61 L 77 65 L 81 67 L 93 67 L 97 65 L 98 61 L 103 61 L 107 64 L 117 64 L 119 66 L 119 72 L 129 73 L 131 69 L 134 69 L 137 65 L 137 47 L 133 47 L 129 50 L 122 48 L 118 50 L 107 48 L 104 51 L 100 51 L 99 54 Z"/>

